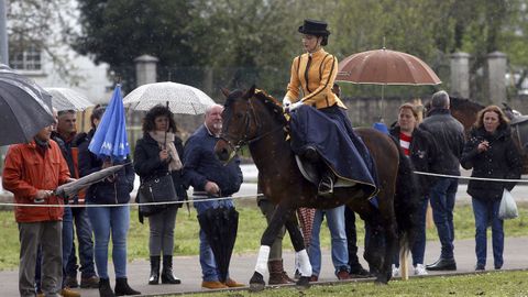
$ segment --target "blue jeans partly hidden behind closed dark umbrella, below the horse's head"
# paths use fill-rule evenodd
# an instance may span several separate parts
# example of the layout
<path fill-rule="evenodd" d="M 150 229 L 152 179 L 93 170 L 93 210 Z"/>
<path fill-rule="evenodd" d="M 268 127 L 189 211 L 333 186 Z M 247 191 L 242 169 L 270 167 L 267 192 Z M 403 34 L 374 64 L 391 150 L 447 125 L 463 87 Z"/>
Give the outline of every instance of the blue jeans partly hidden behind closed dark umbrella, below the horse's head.
<path fill-rule="evenodd" d="M 208 197 L 205 197 L 208 198 Z M 209 208 L 219 208 L 221 206 L 224 207 L 234 207 L 233 201 L 231 199 L 221 200 L 221 201 L 206 201 L 199 202 L 197 201 L 199 198 L 195 198 L 195 208 L 198 212 L 198 216 L 201 215 Z M 201 266 L 201 277 L 204 282 L 218 282 L 219 280 L 219 272 L 217 268 L 217 262 L 215 261 L 215 255 L 212 254 L 211 245 L 209 245 L 209 241 L 207 239 L 206 232 L 200 227 L 200 266 Z"/>

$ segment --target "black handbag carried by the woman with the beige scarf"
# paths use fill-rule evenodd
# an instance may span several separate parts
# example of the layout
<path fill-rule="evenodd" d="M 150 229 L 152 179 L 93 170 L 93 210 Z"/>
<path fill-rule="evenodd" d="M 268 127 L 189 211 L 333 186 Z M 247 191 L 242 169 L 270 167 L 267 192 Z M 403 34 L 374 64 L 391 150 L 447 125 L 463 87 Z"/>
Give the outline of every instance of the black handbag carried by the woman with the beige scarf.
<path fill-rule="evenodd" d="M 169 205 L 142 205 L 150 202 L 167 202 L 178 199 L 174 188 L 173 177 L 169 173 L 166 175 L 147 179 L 140 185 L 138 191 L 140 197 L 140 215 L 148 217 L 165 210 Z"/>

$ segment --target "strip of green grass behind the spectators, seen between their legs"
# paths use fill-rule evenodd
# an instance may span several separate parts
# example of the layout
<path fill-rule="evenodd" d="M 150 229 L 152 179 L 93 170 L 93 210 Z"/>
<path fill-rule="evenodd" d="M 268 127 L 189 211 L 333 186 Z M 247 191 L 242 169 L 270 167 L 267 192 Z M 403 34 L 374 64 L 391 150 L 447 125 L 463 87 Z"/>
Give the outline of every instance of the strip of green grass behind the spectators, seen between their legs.
<path fill-rule="evenodd" d="M 256 207 L 251 207 L 251 202 L 244 201 L 244 206 L 238 207 L 239 233 L 235 253 L 256 253 L 260 245 L 262 232 L 266 227 L 266 220 Z M 256 206 L 256 202 L 254 204 Z M 528 206 L 519 205 L 519 218 L 505 222 L 506 237 L 527 237 L 528 228 Z M 132 208 L 131 224 L 128 241 L 129 260 L 148 258 L 148 223 L 144 224 L 138 221 L 138 209 Z M 186 208 L 178 210 L 175 231 L 175 255 L 197 255 L 198 254 L 198 221 L 196 211 L 191 207 L 190 215 Z M 363 221 L 356 221 L 360 232 L 359 245 L 363 245 Z M 454 212 L 454 226 L 457 239 L 470 239 L 474 237 L 474 219 L 471 206 L 457 206 Z M 0 270 L 14 268 L 19 265 L 19 233 L 14 215 L 12 211 L 0 211 Z M 428 240 L 438 240 L 435 228 L 427 230 Z M 330 248 L 330 234 L 328 228 L 321 228 L 321 246 Z M 289 237 L 285 237 L 284 249 L 293 250 Z"/>

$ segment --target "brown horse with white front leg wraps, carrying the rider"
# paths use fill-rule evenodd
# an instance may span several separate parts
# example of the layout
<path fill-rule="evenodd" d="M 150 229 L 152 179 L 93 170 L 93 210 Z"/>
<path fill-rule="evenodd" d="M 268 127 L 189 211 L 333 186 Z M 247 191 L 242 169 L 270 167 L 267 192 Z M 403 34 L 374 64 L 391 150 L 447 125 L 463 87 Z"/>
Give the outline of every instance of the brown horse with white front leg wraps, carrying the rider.
<path fill-rule="evenodd" d="M 278 101 L 263 91 L 255 91 L 254 87 L 245 92 L 223 92 L 227 101 L 222 114 L 221 140 L 215 148 L 217 156 L 229 161 L 241 146 L 249 145 L 258 168 L 258 186 L 263 194 L 277 205 L 261 240 L 250 289 L 264 288 L 263 275 L 267 273 L 270 246 L 283 224 L 289 232 L 300 264 L 301 277 L 297 285 L 307 287 L 311 266 L 297 227 L 295 210 L 299 207 L 328 209 L 343 204 L 366 222 L 370 235 L 364 257 L 376 275 L 376 280 L 386 284 L 391 279 L 391 264 L 397 250 L 398 238 L 403 249 L 409 246 L 415 227 L 414 213 L 418 205 L 410 163 L 399 151 L 397 143 L 373 129 L 356 130 L 376 163 L 378 207 L 374 207 L 367 195 L 355 187 L 336 188 L 332 197 L 320 197 L 317 195 L 317 187 L 305 179 L 297 167 L 295 155 L 286 140 L 288 123 Z"/>

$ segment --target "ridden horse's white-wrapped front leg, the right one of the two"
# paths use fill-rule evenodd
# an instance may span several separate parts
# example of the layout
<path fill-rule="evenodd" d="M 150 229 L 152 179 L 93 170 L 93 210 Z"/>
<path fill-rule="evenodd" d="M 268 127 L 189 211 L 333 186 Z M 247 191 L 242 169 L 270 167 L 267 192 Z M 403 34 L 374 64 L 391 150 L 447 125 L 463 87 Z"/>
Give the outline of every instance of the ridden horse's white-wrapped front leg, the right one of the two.
<path fill-rule="evenodd" d="M 285 223 L 286 230 L 288 230 L 289 238 L 292 239 L 292 244 L 294 245 L 295 256 L 298 261 L 300 278 L 297 280 L 297 287 L 307 288 L 309 287 L 310 277 L 311 277 L 311 264 L 308 253 L 305 248 L 305 240 L 302 233 L 300 233 L 297 219 L 294 216 L 294 212 L 290 211 L 288 219 Z"/>

